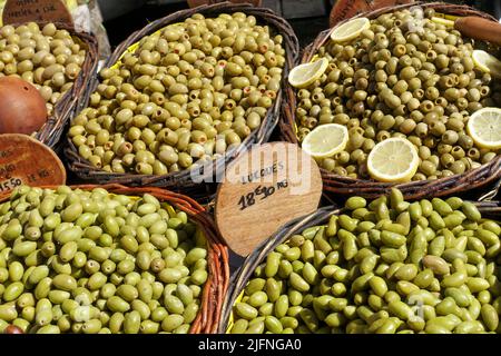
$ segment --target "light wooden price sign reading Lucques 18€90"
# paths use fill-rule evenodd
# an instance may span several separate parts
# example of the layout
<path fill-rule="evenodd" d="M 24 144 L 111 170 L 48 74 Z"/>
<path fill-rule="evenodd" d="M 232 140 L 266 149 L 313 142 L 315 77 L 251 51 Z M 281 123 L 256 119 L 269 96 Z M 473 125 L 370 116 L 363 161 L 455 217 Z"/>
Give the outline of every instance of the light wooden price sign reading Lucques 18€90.
<path fill-rule="evenodd" d="M 296 145 L 265 144 L 226 170 L 216 222 L 229 248 L 247 256 L 284 224 L 315 211 L 321 197 L 322 177 L 310 156 Z"/>

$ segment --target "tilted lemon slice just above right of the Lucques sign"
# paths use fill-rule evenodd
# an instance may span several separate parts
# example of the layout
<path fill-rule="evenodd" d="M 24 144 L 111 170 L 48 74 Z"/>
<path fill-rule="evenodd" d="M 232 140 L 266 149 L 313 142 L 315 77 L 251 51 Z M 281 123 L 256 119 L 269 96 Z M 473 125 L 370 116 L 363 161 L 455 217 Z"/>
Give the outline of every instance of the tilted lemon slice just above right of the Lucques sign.
<path fill-rule="evenodd" d="M 346 148 L 348 132 L 338 123 L 321 125 L 306 135 L 303 150 L 313 158 L 328 158 Z"/>

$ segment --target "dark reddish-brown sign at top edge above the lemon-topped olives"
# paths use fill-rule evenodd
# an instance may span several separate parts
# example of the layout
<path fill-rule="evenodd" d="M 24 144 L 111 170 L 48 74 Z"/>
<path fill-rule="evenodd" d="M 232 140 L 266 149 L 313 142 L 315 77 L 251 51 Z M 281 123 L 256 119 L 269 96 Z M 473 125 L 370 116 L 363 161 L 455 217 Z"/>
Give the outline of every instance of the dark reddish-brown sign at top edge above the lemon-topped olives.
<path fill-rule="evenodd" d="M 334 27 L 338 22 L 353 18 L 362 12 L 412 2 L 414 0 L 337 0 L 331 11 L 330 23 L 331 27 Z"/>

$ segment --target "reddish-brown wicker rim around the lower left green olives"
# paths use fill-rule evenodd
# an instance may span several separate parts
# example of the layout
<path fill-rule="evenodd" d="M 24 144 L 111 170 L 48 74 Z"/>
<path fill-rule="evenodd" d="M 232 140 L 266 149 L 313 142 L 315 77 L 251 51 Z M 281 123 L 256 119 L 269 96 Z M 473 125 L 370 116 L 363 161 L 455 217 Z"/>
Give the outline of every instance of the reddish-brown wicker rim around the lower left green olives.
<path fill-rule="evenodd" d="M 56 188 L 56 187 L 42 187 Z M 202 293 L 202 307 L 191 324 L 190 334 L 214 334 L 217 332 L 219 325 L 220 312 L 223 300 L 228 289 L 229 280 L 229 264 L 228 249 L 222 241 L 214 219 L 206 212 L 206 210 L 194 199 L 167 191 L 160 188 L 128 188 L 121 185 L 106 185 L 106 186 L 72 186 L 71 188 L 79 188 L 84 190 L 91 190 L 94 188 L 104 188 L 110 194 L 139 196 L 149 194 L 155 196 L 163 202 L 168 202 L 177 209 L 185 211 L 190 219 L 196 222 L 204 231 L 208 244 L 208 278 Z M 0 204 L 8 200 L 10 192 L 0 195 Z"/>

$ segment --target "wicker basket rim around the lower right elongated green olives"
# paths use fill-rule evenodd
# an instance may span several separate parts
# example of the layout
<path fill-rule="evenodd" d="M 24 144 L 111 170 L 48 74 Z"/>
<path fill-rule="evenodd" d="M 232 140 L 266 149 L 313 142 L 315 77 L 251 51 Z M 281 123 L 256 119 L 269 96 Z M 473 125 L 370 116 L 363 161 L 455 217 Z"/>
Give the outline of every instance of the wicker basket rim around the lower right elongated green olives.
<path fill-rule="evenodd" d="M 501 220 L 501 201 L 483 201 L 475 202 L 478 209 L 483 217 L 489 217 L 494 220 Z M 315 214 L 295 219 L 283 226 L 268 240 L 264 241 L 256 250 L 249 255 L 243 266 L 235 271 L 229 283 L 229 289 L 226 295 L 226 300 L 223 305 L 222 320 L 219 325 L 219 334 L 226 334 L 233 323 L 233 306 L 240 297 L 248 280 L 253 277 L 255 269 L 266 261 L 266 257 L 278 245 L 287 241 L 293 235 L 299 234 L 312 226 L 324 225 L 328 222 L 332 215 L 340 215 L 343 209 L 337 206 L 324 207 L 318 209 Z"/>

